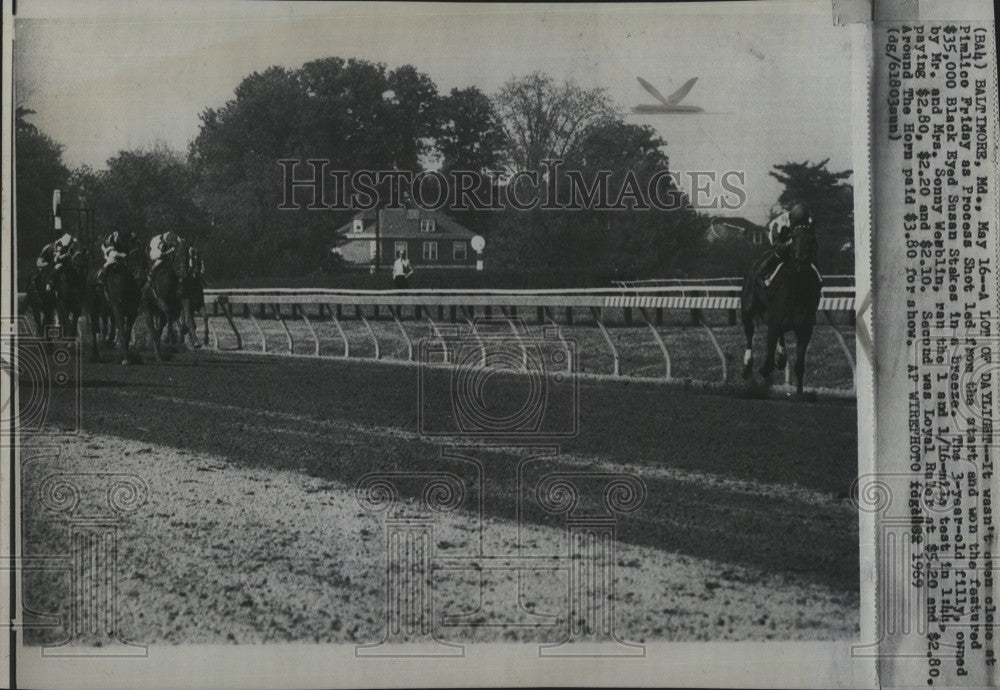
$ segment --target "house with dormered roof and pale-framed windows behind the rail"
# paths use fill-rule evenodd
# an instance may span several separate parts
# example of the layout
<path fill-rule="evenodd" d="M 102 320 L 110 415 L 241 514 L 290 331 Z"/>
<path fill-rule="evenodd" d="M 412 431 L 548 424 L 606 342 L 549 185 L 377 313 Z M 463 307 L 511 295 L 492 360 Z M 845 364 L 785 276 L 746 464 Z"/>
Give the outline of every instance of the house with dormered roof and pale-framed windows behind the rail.
<path fill-rule="evenodd" d="M 362 211 L 337 228 L 337 235 L 347 241 L 333 251 L 348 265 L 374 265 L 377 235 L 382 266 L 392 266 L 396 253 L 405 251 L 414 268 L 476 267 L 476 252 L 469 244 L 475 233 L 441 211 L 382 209 L 377 232 L 375 211 Z"/>

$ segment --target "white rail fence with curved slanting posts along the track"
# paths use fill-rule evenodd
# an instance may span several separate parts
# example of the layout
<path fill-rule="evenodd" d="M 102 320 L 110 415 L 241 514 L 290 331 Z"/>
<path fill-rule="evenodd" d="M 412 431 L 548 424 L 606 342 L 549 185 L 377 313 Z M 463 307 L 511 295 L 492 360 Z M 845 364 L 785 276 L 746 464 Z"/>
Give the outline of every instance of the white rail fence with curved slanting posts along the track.
<path fill-rule="evenodd" d="M 316 335 L 312 319 L 328 318 L 335 326 L 344 342 L 343 357 L 350 356 L 350 346 L 344 334 L 341 321 L 350 315 L 364 324 L 375 350 L 375 359 L 381 356 L 381 348 L 369 318 L 380 319 L 384 309 L 397 327 L 406 344 L 407 358 L 414 359 L 414 344 L 403 326 L 403 321 L 424 321 L 435 337 L 440 338 L 440 324 L 451 322 L 466 324 L 475 334 L 475 322 L 479 318 L 493 320 L 533 320 L 543 326 L 552 327 L 560 338 L 563 337 L 557 315 L 562 324 L 573 326 L 579 322 L 580 312 L 589 313 L 585 319 L 596 326 L 603 336 L 612 359 L 612 375 L 619 377 L 621 354 L 609 333 L 609 327 L 638 326 L 648 330 L 663 357 L 663 378 L 672 378 L 672 358 L 658 326 L 664 323 L 664 312 L 686 311 L 690 313 L 691 325 L 700 328 L 708 337 L 722 367 L 722 380 L 729 377 L 729 360 L 719 342 L 715 326 L 706 318 L 705 312 L 723 312 L 728 323 L 738 323 L 740 307 L 738 285 L 686 284 L 671 286 L 634 286 L 617 288 L 583 288 L 566 290 L 339 290 L 312 288 L 277 289 L 210 289 L 205 292 L 207 309 L 213 316 L 225 317 L 233 335 L 237 350 L 243 349 L 243 338 L 236 326 L 236 318 L 249 319 L 261 340 L 261 350 L 270 352 L 267 337 L 258 318 L 266 318 L 268 313 L 281 322 L 286 340 L 286 351 L 295 351 L 293 335 L 285 322 L 286 318 L 301 320 L 312 339 L 313 353 L 320 354 L 320 339 Z M 841 323 L 845 319 L 834 318 L 837 313 L 846 315 L 853 325 L 854 288 L 851 286 L 827 287 L 820 299 L 818 313 L 833 329 L 840 351 L 855 370 L 854 353 L 848 346 Z M 351 313 L 353 312 L 353 314 Z M 310 316 L 311 314 L 311 316 Z M 609 321 L 613 315 L 615 322 Z M 216 337 L 216 343 L 218 338 Z M 786 368 L 786 383 L 790 376 L 790 365 Z"/>

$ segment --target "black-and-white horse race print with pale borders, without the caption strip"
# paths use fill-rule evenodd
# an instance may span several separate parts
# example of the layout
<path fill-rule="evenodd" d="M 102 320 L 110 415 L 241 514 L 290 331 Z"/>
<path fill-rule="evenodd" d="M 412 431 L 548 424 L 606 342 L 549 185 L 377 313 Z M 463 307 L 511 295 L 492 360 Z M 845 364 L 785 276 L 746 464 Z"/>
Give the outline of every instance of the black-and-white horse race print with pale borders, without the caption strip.
<path fill-rule="evenodd" d="M 17 2 L 19 673 L 874 683 L 848 4 Z"/>

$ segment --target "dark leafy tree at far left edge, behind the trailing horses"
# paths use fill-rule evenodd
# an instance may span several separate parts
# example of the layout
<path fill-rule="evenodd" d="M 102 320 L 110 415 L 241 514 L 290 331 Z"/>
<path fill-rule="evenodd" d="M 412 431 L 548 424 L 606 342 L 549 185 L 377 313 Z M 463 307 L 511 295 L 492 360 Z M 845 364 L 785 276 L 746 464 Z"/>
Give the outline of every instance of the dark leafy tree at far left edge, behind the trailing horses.
<path fill-rule="evenodd" d="M 19 280 L 34 270 L 35 258 L 50 241 L 52 190 L 64 189 L 69 178 L 62 160 L 63 147 L 28 121 L 33 114 L 22 106 L 15 113 Z"/>

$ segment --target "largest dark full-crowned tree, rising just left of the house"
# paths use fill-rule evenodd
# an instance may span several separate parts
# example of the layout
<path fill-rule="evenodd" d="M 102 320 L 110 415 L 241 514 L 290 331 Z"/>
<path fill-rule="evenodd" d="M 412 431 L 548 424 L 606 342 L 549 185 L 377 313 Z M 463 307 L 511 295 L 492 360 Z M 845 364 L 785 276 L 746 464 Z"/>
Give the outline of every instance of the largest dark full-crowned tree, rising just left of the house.
<path fill-rule="evenodd" d="M 326 159 L 328 170 L 421 169 L 439 128 L 434 83 L 410 65 L 337 57 L 296 70 L 254 73 L 222 108 L 201 114 L 190 147 L 199 198 L 215 219 L 212 243 L 233 275 L 287 275 L 314 270 L 333 229 L 350 211 L 281 210 L 281 159 Z M 306 168 L 296 172 L 308 176 Z M 333 195 L 335 184 L 328 178 Z M 327 199 L 332 202 L 333 198 Z"/>

